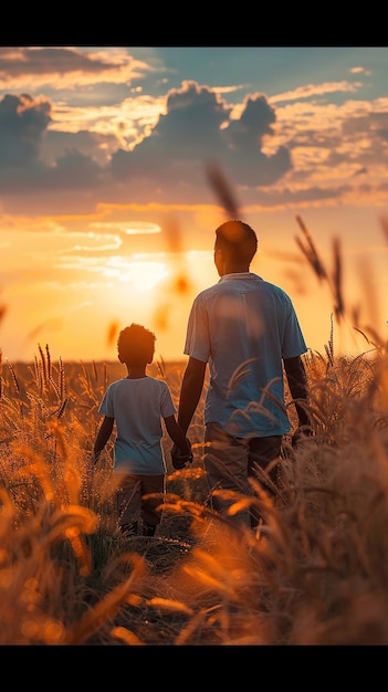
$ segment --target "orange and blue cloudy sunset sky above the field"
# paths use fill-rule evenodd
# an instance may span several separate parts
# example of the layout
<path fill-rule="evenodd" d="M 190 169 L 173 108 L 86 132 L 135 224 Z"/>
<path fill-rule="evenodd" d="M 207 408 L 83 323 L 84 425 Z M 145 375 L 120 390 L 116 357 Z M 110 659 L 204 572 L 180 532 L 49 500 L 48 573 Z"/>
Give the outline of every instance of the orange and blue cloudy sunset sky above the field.
<path fill-rule="evenodd" d="M 368 350 L 358 329 L 387 339 L 387 74 L 388 48 L 0 46 L 2 358 L 114 360 L 132 322 L 156 333 L 156 359 L 185 358 L 229 218 L 209 166 L 311 349 L 331 335 L 335 242 L 335 348 Z"/>

